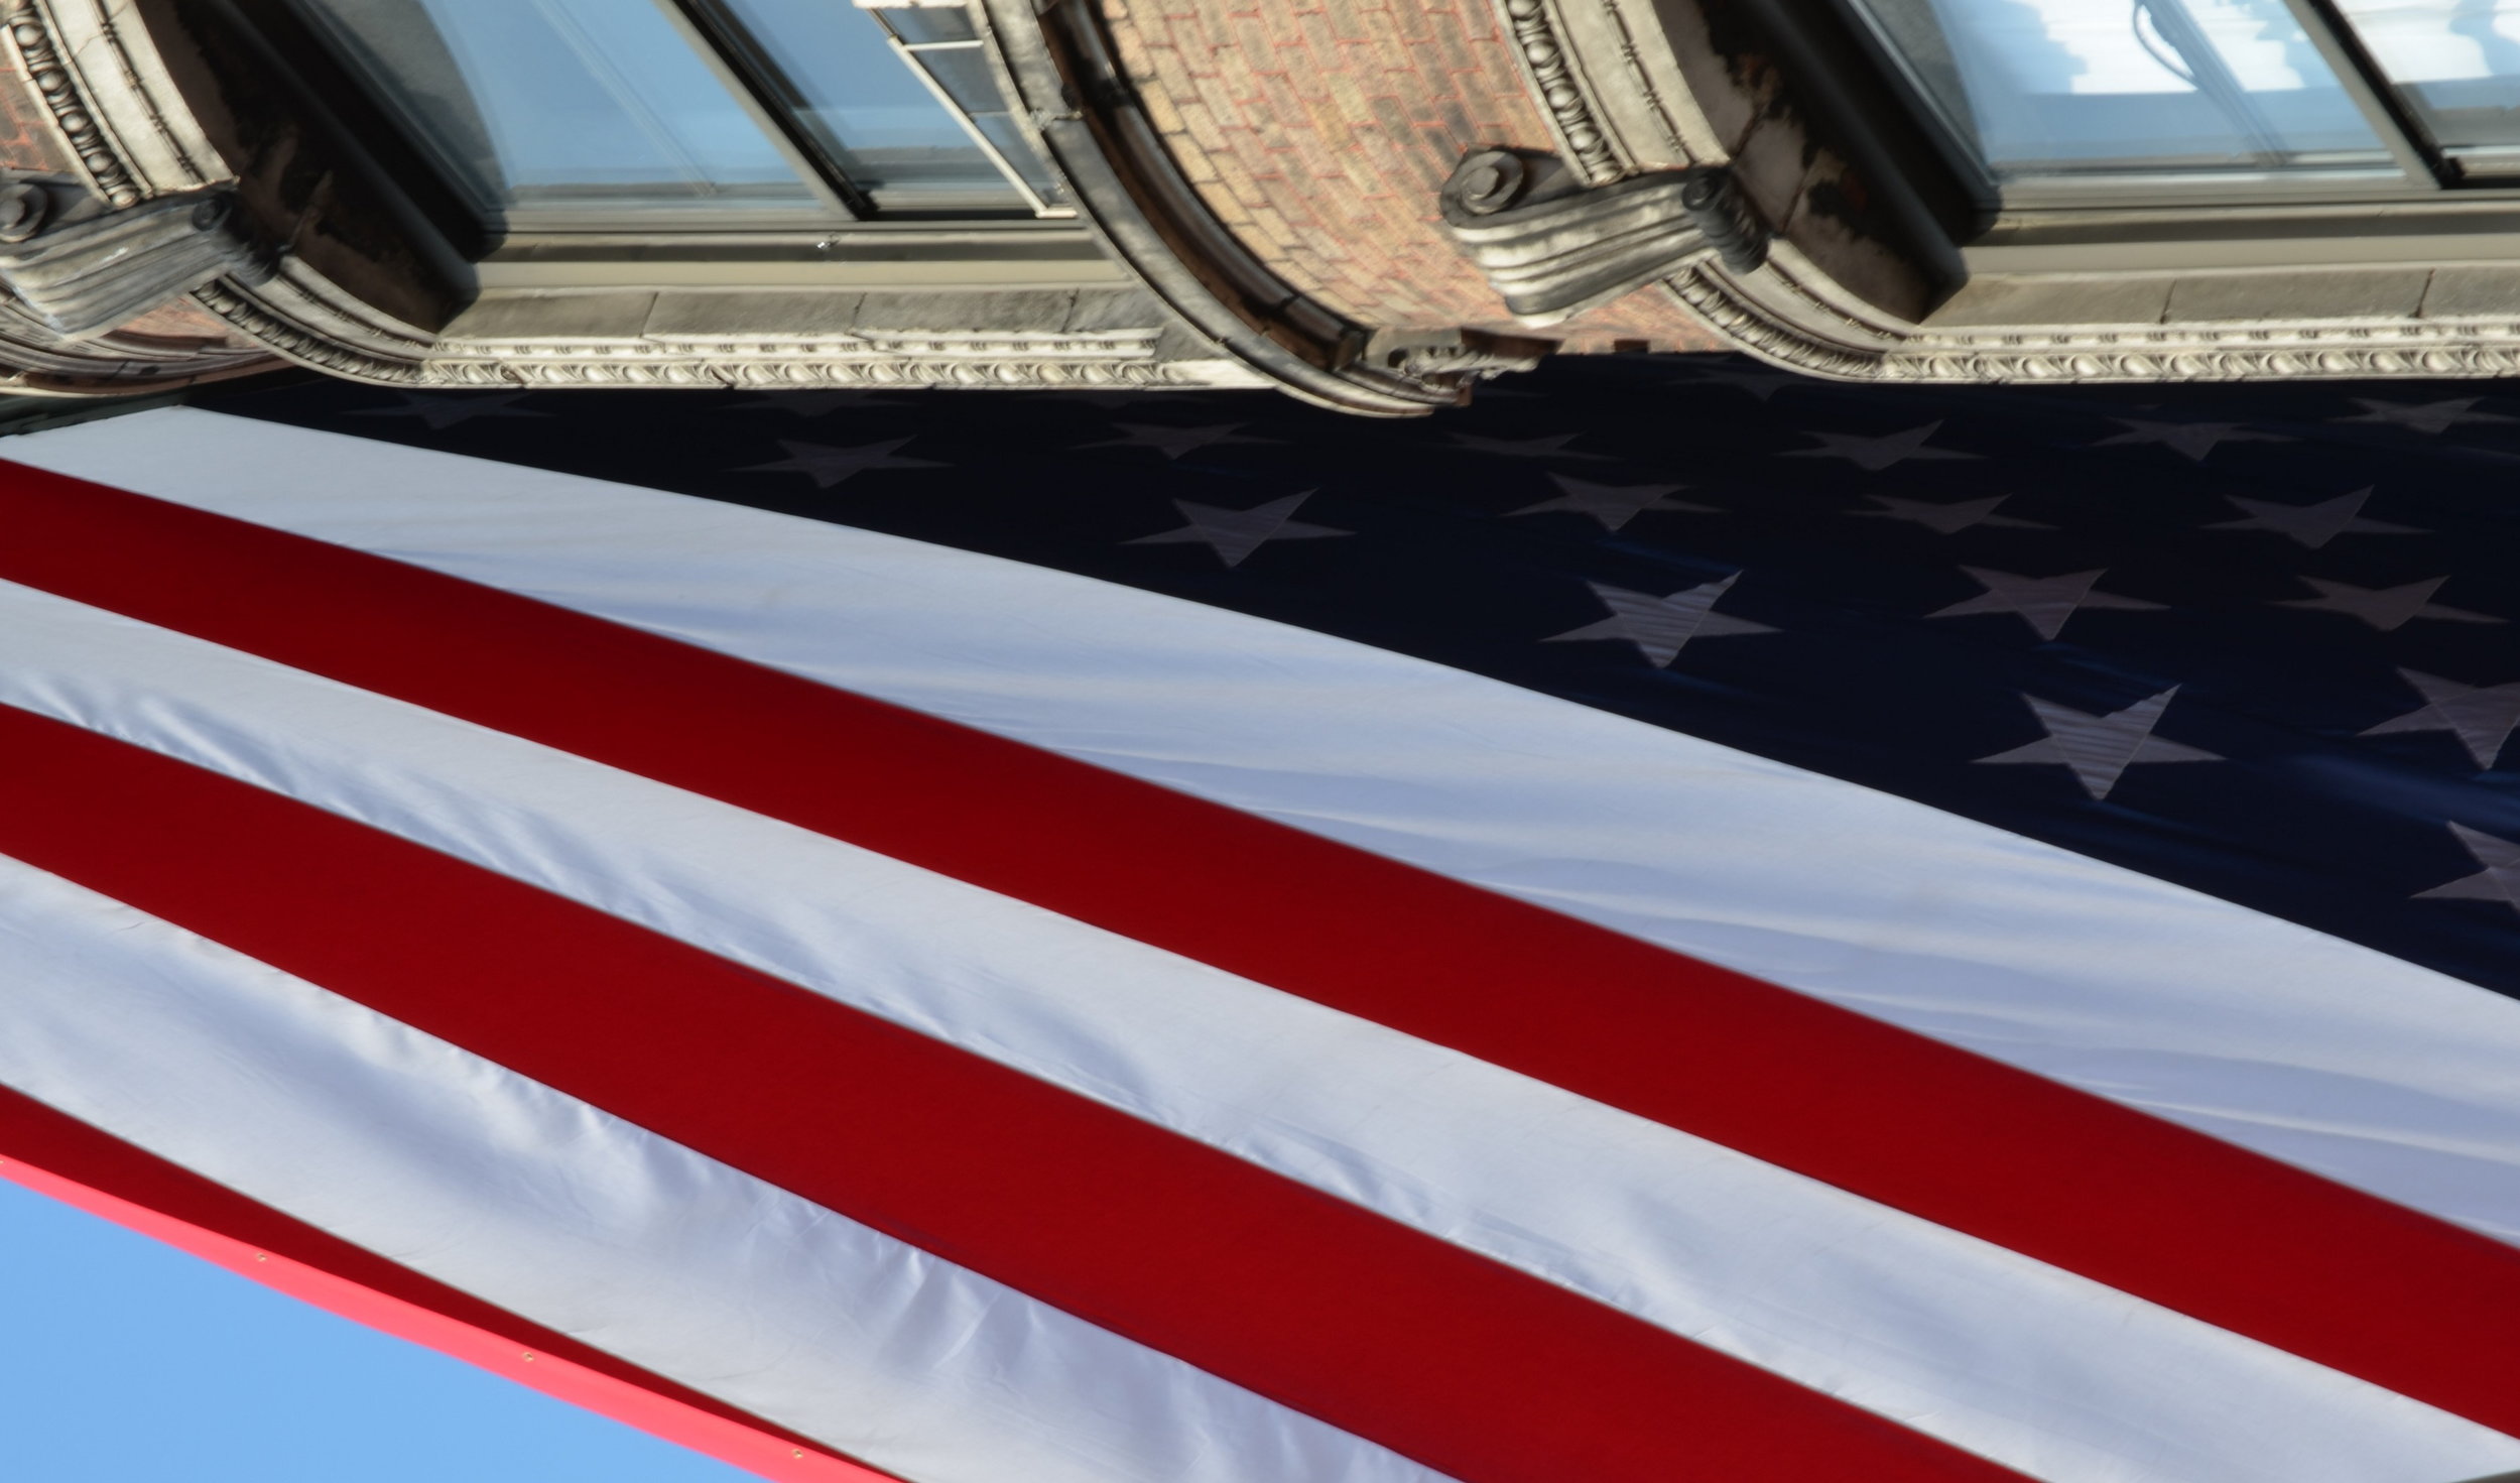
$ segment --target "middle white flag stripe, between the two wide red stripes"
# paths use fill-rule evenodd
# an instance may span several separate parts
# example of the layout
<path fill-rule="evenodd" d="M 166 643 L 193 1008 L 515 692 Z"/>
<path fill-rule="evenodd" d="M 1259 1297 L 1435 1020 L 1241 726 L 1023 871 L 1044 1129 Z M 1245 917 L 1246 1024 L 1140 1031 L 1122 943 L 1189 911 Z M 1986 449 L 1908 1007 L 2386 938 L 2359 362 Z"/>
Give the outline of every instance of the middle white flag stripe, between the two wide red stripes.
<path fill-rule="evenodd" d="M 2520 1465 L 2520 1443 L 2472 1422 L 1530 1077 L 5 583 L 0 701 L 819 989 L 2039 1478 L 2361 1483 L 2409 1463 L 2427 1480 Z"/>

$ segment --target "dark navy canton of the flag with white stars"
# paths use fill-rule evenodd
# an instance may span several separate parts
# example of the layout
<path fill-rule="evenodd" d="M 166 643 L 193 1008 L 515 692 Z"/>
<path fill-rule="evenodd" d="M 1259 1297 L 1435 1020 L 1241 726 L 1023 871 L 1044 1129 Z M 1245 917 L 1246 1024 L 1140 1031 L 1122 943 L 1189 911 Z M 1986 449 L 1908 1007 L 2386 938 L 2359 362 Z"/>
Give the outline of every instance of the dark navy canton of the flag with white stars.
<path fill-rule="evenodd" d="M 1338 633 L 2520 994 L 2520 401 L 2301 383 L 2170 409 L 1729 361 L 1522 386 L 1424 424 L 1263 393 L 214 406 Z"/>

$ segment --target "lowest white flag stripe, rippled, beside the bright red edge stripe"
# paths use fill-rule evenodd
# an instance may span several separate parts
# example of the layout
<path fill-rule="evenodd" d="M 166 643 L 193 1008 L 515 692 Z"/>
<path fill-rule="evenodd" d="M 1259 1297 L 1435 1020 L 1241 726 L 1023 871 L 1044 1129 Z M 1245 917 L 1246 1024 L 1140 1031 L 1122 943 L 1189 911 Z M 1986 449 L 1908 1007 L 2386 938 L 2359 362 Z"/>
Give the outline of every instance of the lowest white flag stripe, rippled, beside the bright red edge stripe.
<path fill-rule="evenodd" d="M 8 858 L 0 958 L 10 1087 L 920 1483 L 1441 1483 Z"/>

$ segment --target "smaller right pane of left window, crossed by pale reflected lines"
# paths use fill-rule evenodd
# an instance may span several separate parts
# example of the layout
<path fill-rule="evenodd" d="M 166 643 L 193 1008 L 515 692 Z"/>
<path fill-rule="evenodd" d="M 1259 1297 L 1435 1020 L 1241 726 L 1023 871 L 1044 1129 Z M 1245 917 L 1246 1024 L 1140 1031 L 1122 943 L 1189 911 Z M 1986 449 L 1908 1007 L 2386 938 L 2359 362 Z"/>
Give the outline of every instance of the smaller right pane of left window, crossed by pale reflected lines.
<path fill-rule="evenodd" d="M 965 111 L 1005 111 L 963 10 L 887 8 L 877 20 L 849 0 L 721 3 L 786 76 L 806 129 L 877 207 L 1031 209 L 963 124 Z M 887 20 L 905 43 L 942 43 L 945 50 L 897 48 Z M 940 76 L 937 86 L 922 78 L 922 63 Z M 953 83 L 942 81 L 948 76 Z M 937 96 L 940 88 L 953 103 Z M 1021 139 L 1016 144 L 1023 149 Z M 1028 159 L 1023 149 L 1011 164 Z"/>

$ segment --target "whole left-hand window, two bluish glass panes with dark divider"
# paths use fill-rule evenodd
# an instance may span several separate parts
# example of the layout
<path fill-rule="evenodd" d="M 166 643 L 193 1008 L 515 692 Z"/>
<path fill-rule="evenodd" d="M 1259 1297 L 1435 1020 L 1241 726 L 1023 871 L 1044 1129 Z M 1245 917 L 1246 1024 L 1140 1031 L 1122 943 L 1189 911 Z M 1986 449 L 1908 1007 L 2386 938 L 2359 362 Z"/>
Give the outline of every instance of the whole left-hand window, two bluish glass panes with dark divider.
<path fill-rule="evenodd" d="M 365 91 L 494 232 L 1074 217 L 1005 108 L 963 5 L 912 10 L 907 25 L 895 25 L 852 0 L 824 3 L 829 13 L 789 10 L 789 30 L 829 30 L 806 38 L 842 40 L 847 58 L 832 45 L 799 48 L 796 35 L 741 15 L 761 10 L 753 20 L 776 23 L 776 0 L 290 8 L 365 78 Z M 960 55 L 930 55 L 940 28 L 945 50 Z M 799 76 L 814 68 L 824 76 Z M 844 96 L 872 103 L 857 111 L 852 124 L 867 126 L 854 139 L 814 108 L 811 83 L 829 98 L 834 73 L 839 86 L 857 83 Z"/>

